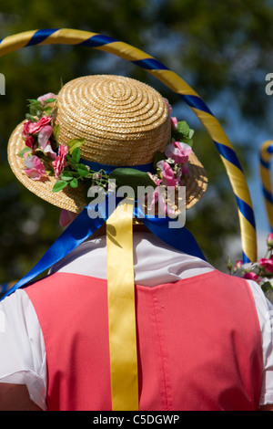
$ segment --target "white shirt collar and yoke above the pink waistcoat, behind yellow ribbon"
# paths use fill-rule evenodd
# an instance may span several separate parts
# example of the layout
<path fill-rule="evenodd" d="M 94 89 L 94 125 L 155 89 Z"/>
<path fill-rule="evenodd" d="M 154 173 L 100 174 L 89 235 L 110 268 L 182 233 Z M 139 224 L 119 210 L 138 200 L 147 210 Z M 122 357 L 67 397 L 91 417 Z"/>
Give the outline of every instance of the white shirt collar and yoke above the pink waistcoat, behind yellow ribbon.
<path fill-rule="evenodd" d="M 197 256 L 187 255 L 150 233 L 134 233 L 134 272 L 137 285 L 154 287 L 182 278 L 207 273 L 215 268 Z M 49 273 L 66 272 L 107 278 L 106 236 L 87 240 L 77 246 Z"/>

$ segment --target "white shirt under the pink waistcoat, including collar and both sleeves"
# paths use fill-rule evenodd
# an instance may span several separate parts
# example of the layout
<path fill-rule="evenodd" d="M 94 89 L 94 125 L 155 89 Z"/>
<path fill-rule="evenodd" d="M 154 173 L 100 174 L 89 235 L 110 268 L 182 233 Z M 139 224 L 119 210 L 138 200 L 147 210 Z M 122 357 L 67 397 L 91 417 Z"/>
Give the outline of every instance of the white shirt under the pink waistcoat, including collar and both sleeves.
<path fill-rule="evenodd" d="M 136 284 L 153 288 L 215 268 L 167 246 L 155 235 L 135 233 L 134 269 Z M 106 237 L 78 246 L 51 268 L 50 273 L 54 272 L 106 279 Z M 255 299 L 263 344 L 260 405 L 264 405 L 273 403 L 273 306 L 256 282 L 249 280 L 248 284 Z M 31 399 L 46 410 L 45 343 L 35 309 L 24 289 L 16 290 L 0 302 L 0 382 L 26 384 Z"/>

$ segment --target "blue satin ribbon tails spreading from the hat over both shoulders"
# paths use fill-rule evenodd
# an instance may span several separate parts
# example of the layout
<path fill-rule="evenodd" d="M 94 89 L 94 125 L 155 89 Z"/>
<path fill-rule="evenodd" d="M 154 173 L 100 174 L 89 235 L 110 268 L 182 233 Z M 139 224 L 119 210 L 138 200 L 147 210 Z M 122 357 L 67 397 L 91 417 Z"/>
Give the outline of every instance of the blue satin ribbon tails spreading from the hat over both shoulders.
<path fill-rule="evenodd" d="M 115 198 L 115 201 L 110 201 Z M 117 198 L 117 203 L 121 200 Z M 113 207 L 111 209 L 111 207 Z M 106 196 L 105 204 L 87 204 L 84 210 L 76 216 L 76 219 L 67 226 L 66 230 L 60 235 L 55 243 L 49 247 L 45 255 L 33 267 L 25 277 L 21 278 L 13 288 L 10 288 L 1 298 L 4 299 L 8 295 L 15 292 L 17 288 L 26 287 L 35 277 L 44 273 L 45 270 L 52 267 L 56 262 L 60 261 L 73 249 L 83 243 L 90 235 L 105 224 L 106 219 L 116 208 L 116 195 Z M 169 222 L 176 222 L 169 217 L 148 218 L 141 210 L 139 204 L 135 204 L 135 216 L 141 218 L 141 221 L 147 228 L 158 238 L 165 241 L 168 245 L 177 248 L 188 255 L 197 256 L 205 260 L 199 246 L 193 235 L 185 228 L 169 228 Z"/>

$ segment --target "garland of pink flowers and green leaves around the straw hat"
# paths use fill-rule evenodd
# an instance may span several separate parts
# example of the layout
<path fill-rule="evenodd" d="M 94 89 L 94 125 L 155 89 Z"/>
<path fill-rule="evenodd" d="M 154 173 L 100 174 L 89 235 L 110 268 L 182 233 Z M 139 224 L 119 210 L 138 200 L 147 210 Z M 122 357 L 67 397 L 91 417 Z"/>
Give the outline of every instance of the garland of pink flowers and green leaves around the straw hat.
<path fill-rule="evenodd" d="M 120 168 L 107 174 L 103 169 L 93 171 L 81 159 L 81 145 L 86 139 L 71 139 L 66 143 L 59 142 L 60 127 L 56 124 L 56 94 L 48 93 L 38 99 L 28 99 L 29 112 L 22 132 L 25 148 L 17 153 L 24 158 L 24 172 L 32 180 L 43 180 L 47 175 L 56 177 L 52 192 L 57 193 L 66 186 L 77 188 L 79 183 L 102 186 L 108 192 L 109 179 L 115 179 L 118 185 L 152 185 L 154 194 L 152 204 L 161 204 L 167 213 L 167 203 L 162 200 L 160 188 L 182 185 L 181 179 L 188 174 L 187 161 L 192 152 L 193 134 L 185 120 L 178 121 L 172 117 L 172 108 L 167 103 L 171 121 L 171 141 L 165 152 L 157 152 L 153 162 L 154 172 L 145 173 L 137 168 Z M 151 208 L 151 207 L 149 207 Z"/>

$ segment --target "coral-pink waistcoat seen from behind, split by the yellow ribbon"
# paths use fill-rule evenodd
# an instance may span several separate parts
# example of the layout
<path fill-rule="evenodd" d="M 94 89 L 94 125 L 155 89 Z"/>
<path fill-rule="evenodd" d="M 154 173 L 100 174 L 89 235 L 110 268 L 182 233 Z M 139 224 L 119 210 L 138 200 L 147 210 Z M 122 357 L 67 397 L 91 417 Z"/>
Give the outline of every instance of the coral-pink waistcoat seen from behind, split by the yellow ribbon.
<path fill-rule="evenodd" d="M 106 280 L 25 288 L 45 340 L 48 410 L 111 410 Z M 217 270 L 136 285 L 139 410 L 256 410 L 261 335 L 248 283 Z"/>

